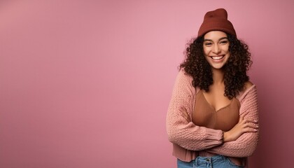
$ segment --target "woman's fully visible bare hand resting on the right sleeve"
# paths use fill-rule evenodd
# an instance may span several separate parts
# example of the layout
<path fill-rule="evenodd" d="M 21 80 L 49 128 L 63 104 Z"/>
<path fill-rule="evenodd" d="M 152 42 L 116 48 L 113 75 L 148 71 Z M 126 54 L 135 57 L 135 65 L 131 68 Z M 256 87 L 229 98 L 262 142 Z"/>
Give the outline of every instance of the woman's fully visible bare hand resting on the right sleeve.
<path fill-rule="evenodd" d="M 223 141 L 235 141 L 238 139 L 241 134 L 246 132 L 257 132 L 258 130 L 258 122 L 256 120 L 250 118 L 244 118 L 244 116 L 248 113 L 242 113 L 239 118 L 239 123 L 235 125 L 230 131 L 223 132 Z"/>

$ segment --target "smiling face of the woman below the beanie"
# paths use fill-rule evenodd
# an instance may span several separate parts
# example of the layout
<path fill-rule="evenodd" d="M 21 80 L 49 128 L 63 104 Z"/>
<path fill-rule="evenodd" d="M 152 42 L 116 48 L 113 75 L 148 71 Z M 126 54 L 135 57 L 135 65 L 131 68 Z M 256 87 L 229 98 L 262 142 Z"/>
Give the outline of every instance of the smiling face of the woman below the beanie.
<path fill-rule="evenodd" d="M 204 35 L 204 56 L 212 69 L 221 69 L 230 57 L 230 42 L 223 31 L 209 31 Z"/>

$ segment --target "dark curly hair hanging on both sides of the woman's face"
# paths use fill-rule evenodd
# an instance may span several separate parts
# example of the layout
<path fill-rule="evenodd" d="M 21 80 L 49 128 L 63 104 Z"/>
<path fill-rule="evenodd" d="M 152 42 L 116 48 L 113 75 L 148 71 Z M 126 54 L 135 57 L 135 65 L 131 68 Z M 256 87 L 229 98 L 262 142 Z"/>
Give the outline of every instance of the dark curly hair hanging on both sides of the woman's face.
<path fill-rule="evenodd" d="M 245 83 L 249 80 L 247 71 L 252 64 L 251 53 L 248 45 L 239 41 L 236 36 L 227 34 L 230 41 L 230 57 L 223 66 L 225 71 L 225 97 L 232 99 L 239 92 L 244 90 Z M 193 86 L 200 87 L 201 90 L 209 91 L 212 79 L 211 66 L 204 57 L 203 51 L 204 36 L 192 39 L 186 48 L 186 59 L 180 64 L 179 68 L 184 69 L 188 75 L 193 77 Z"/>

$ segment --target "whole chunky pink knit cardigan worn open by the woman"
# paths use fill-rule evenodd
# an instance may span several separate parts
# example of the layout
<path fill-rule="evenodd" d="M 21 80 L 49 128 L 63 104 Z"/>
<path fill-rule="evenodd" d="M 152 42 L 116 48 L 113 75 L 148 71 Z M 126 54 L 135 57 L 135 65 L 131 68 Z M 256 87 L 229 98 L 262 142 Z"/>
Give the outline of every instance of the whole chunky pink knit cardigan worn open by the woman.
<path fill-rule="evenodd" d="M 193 78 L 183 69 L 176 77 L 172 99 L 167 112 L 167 134 L 173 144 L 173 155 L 180 160 L 190 162 L 197 157 L 197 151 L 206 150 L 229 157 L 248 157 L 253 154 L 258 144 L 258 132 L 242 134 L 236 141 L 223 143 L 223 131 L 200 127 L 188 123 L 181 116 L 179 108 L 185 107 L 192 120 L 195 109 L 195 95 L 199 89 L 192 85 Z M 249 111 L 245 118 L 258 120 L 258 98 L 255 85 L 249 87 L 239 97 L 240 114 Z"/>

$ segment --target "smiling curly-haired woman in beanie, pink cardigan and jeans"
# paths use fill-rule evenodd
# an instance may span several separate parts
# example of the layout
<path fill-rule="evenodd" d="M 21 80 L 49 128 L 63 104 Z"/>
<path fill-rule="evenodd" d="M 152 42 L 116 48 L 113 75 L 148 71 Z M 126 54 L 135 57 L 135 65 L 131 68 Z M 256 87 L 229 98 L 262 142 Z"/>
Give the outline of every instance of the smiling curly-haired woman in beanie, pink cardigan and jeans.
<path fill-rule="evenodd" d="M 258 143 L 257 93 L 248 46 L 225 9 L 204 15 L 186 56 L 167 113 L 178 167 L 245 167 Z"/>

